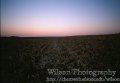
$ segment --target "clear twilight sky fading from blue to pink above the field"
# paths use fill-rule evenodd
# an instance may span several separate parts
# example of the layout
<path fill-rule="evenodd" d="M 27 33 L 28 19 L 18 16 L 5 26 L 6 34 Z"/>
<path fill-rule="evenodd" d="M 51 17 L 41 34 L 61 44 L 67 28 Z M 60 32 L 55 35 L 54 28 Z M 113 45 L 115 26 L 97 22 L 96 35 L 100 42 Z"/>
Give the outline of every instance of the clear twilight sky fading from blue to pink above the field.
<path fill-rule="evenodd" d="M 2 36 L 120 32 L 120 0 L 1 0 Z"/>

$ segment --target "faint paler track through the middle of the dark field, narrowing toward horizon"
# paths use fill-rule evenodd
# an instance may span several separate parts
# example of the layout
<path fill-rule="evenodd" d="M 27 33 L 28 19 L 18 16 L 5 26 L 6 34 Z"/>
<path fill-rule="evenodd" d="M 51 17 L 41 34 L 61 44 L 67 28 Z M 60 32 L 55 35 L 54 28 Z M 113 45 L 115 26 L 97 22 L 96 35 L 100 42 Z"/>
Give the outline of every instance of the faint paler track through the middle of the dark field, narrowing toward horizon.
<path fill-rule="evenodd" d="M 48 47 L 49 50 L 46 50 L 45 55 L 42 57 L 42 59 L 40 60 L 40 64 L 42 68 L 45 67 L 57 67 L 57 65 L 59 64 L 59 57 L 61 55 L 61 48 L 58 45 L 58 40 L 57 39 L 53 39 L 51 40 L 51 45 Z"/>

